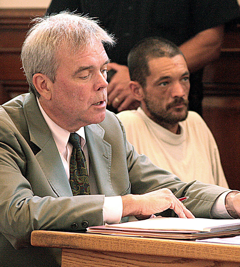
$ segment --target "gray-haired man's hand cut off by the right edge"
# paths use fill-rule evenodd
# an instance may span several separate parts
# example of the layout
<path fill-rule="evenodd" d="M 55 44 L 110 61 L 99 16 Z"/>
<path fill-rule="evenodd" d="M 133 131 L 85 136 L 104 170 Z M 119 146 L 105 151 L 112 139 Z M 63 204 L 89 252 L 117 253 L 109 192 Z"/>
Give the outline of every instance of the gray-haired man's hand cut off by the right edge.
<path fill-rule="evenodd" d="M 240 217 L 240 193 L 238 191 L 232 191 L 226 195 L 225 207 L 233 218 Z"/>

